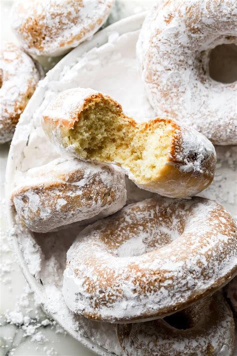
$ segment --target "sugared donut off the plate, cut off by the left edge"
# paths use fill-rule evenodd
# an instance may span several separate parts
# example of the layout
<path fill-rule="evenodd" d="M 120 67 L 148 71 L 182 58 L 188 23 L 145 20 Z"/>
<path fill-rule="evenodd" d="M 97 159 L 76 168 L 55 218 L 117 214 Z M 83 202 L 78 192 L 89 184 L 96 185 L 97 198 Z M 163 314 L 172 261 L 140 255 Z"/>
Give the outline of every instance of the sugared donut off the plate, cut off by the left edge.
<path fill-rule="evenodd" d="M 0 53 L 0 144 L 12 139 L 15 125 L 43 77 L 41 66 L 12 43 Z"/>

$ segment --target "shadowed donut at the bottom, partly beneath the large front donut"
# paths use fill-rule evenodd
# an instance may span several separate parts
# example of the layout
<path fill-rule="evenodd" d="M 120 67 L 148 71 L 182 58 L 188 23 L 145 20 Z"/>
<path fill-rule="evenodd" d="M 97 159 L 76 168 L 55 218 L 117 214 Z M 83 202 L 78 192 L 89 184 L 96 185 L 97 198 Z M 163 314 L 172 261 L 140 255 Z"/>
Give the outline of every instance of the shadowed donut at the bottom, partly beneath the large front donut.
<path fill-rule="evenodd" d="M 127 356 L 231 356 L 234 321 L 215 294 L 165 319 L 117 324 L 117 337 Z"/>

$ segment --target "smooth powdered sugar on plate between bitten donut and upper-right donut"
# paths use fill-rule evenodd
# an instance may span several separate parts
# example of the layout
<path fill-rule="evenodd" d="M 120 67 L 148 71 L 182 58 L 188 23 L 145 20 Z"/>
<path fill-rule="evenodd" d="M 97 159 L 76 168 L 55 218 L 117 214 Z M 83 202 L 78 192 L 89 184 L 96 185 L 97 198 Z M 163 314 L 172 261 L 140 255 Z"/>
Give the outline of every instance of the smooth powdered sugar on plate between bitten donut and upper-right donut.
<path fill-rule="evenodd" d="M 137 36 L 138 31 L 119 37 L 117 33 L 110 34 L 109 43 L 91 49 L 72 66 L 67 66 L 59 79 L 60 91 L 76 88 L 80 83 L 81 88 L 89 87 L 110 95 L 122 105 L 126 115 L 138 122 L 154 117 L 154 111 L 144 95 L 136 63 L 134 46 Z M 114 85 L 115 83 L 123 85 Z"/>

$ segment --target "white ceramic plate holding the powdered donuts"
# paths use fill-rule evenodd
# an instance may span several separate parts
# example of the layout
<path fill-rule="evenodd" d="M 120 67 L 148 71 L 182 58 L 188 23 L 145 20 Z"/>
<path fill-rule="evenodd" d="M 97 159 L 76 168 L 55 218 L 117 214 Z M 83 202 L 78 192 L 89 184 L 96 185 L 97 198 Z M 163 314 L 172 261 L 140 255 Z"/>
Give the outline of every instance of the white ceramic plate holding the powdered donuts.
<path fill-rule="evenodd" d="M 12 243 L 20 267 L 44 310 L 69 334 L 99 354 L 121 354 L 116 338 L 116 325 L 77 317 L 65 306 L 61 294 L 66 251 L 78 233 L 66 229 L 56 233 L 30 233 L 17 223 L 11 209 L 10 192 L 17 178 L 27 169 L 48 163 L 58 157 L 48 142 L 40 116 L 55 95 L 65 89 L 90 87 L 111 95 L 122 104 L 126 114 L 137 120 L 153 117 L 135 59 L 138 30 L 145 14 L 121 20 L 81 44 L 65 56 L 45 79 L 20 117 L 11 143 L 6 169 L 6 199 L 12 227 Z M 236 214 L 236 147 L 218 147 L 218 165 L 212 185 L 200 195 L 222 203 Z M 128 202 L 153 194 L 128 182 Z"/>

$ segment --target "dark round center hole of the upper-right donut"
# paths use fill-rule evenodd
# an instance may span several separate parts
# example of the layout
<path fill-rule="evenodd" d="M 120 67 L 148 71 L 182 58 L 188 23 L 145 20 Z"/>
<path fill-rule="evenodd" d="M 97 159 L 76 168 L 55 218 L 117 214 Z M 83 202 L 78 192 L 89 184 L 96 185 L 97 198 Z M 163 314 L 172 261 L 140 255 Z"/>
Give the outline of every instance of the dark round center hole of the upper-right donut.
<path fill-rule="evenodd" d="M 218 45 L 210 51 L 209 76 L 220 83 L 233 83 L 237 80 L 237 46 Z"/>

